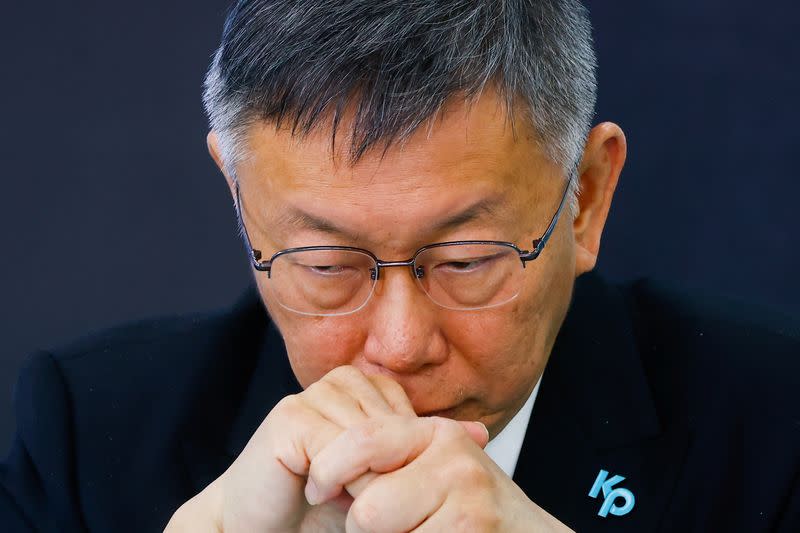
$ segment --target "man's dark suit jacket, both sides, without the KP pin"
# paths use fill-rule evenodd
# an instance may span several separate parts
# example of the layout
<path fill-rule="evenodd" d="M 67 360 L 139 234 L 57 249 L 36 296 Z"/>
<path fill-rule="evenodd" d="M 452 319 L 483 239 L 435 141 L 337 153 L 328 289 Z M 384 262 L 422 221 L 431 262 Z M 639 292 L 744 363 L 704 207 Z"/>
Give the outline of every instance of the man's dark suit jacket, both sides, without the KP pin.
<path fill-rule="evenodd" d="M 578 279 L 514 480 L 578 531 L 800 531 L 800 333 L 652 282 Z M 255 291 L 27 360 L 0 530 L 160 531 L 298 392 Z M 599 471 L 635 496 L 598 515 Z M 616 500 L 619 505 L 624 500 Z"/>

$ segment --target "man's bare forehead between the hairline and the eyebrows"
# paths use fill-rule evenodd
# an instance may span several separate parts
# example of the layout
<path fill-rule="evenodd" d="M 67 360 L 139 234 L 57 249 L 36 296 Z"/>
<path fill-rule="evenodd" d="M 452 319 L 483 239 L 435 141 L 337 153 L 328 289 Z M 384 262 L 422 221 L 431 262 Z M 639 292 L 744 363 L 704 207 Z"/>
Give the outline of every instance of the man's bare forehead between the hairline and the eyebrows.
<path fill-rule="evenodd" d="M 354 164 L 347 135 L 350 116 L 345 112 L 335 145 L 325 120 L 307 136 L 257 123 L 247 136 L 248 158 L 239 173 L 271 182 L 286 193 L 321 188 L 402 194 L 441 187 L 513 186 L 520 178 L 530 185 L 532 177 L 551 170 L 530 127 L 518 119 L 512 129 L 494 91 L 470 103 L 449 103 L 407 139 L 385 152 L 377 143 Z"/>

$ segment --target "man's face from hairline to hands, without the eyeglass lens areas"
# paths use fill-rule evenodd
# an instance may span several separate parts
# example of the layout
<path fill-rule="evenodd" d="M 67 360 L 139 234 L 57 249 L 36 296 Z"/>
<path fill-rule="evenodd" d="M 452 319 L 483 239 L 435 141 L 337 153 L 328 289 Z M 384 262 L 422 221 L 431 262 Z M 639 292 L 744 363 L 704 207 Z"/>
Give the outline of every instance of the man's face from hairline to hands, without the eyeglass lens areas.
<path fill-rule="evenodd" d="M 251 157 L 237 168 L 253 246 L 268 258 L 290 247 L 347 245 L 392 261 L 452 240 L 530 249 L 558 207 L 565 181 L 521 122 L 514 138 L 499 102 L 486 92 L 472 107 L 450 106 L 403 147 L 392 146 L 383 157 L 378 148 L 355 165 L 346 155 L 349 139 L 332 152 L 326 128 L 301 139 L 271 124 L 254 127 Z M 492 208 L 432 229 L 482 200 Z M 298 211 L 339 231 L 304 227 L 293 216 Z M 272 300 L 273 281 L 265 273 L 256 273 L 256 281 L 304 387 L 337 366 L 354 365 L 400 383 L 418 414 L 480 420 L 494 436 L 544 369 L 575 271 L 565 209 L 543 254 L 527 264 L 519 296 L 496 308 L 439 307 L 407 268 L 383 270 L 363 309 L 334 317 L 288 311 Z"/>

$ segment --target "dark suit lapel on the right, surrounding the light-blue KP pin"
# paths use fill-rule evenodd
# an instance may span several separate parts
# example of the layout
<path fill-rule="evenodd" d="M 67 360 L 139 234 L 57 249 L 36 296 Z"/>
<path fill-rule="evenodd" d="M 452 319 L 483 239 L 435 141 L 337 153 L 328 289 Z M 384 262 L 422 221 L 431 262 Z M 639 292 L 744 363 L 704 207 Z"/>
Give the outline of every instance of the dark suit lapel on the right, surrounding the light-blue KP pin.
<path fill-rule="evenodd" d="M 578 531 L 655 531 L 687 444 L 685 429 L 661 427 L 623 294 L 594 274 L 580 277 L 514 480 Z M 600 470 L 607 479 L 625 478 L 613 489 L 633 494 L 628 513 L 598 515 L 605 498 L 589 491 Z M 614 501 L 622 506 L 625 500 Z"/>

